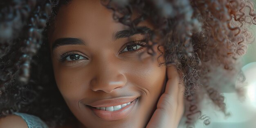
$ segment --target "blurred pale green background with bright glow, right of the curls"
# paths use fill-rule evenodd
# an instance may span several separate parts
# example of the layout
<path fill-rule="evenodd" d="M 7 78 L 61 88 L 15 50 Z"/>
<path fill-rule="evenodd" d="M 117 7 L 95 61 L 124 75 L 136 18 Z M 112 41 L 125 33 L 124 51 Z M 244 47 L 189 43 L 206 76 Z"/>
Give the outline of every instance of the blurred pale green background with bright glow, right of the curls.
<path fill-rule="evenodd" d="M 256 0 L 253 2 L 256 3 Z M 195 128 L 256 128 L 256 25 L 251 25 L 251 31 L 255 40 L 248 45 L 247 53 L 240 59 L 247 83 L 242 87 L 246 91 L 245 97 L 239 98 L 236 92 L 223 93 L 229 117 L 225 117 L 209 101 L 203 101 L 202 115 L 207 116 L 210 124 L 204 125 L 206 119 L 199 120 Z M 178 128 L 186 126 L 180 125 Z"/>

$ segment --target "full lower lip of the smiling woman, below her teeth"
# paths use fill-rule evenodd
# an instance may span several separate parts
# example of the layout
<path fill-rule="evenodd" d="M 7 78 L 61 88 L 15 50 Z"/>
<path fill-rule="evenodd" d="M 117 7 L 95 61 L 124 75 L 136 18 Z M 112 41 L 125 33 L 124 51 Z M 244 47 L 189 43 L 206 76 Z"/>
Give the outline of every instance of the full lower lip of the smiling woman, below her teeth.
<path fill-rule="evenodd" d="M 137 102 L 137 99 L 132 101 L 128 106 L 125 106 L 124 108 L 121 108 L 117 111 L 106 111 L 106 110 L 99 110 L 93 107 L 89 108 L 94 112 L 95 115 L 97 115 L 99 118 L 101 118 L 104 121 L 115 121 L 119 119 L 123 119 L 132 111 L 132 109 L 135 106 L 135 103 Z"/>

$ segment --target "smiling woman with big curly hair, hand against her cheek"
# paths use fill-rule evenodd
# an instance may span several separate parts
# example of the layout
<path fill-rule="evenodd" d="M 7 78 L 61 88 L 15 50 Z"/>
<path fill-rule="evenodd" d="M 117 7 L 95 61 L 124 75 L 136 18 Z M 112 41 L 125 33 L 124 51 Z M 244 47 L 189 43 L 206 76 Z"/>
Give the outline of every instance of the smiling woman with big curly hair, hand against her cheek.
<path fill-rule="evenodd" d="M 9 34 L 1 34 L 0 110 L 8 116 L 0 126 L 12 128 L 26 128 L 26 116 L 50 128 L 177 128 L 182 116 L 188 127 L 198 117 L 207 124 L 202 96 L 227 115 L 218 90 L 237 75 L 236 59 L 251 38 L 245 23 L 254 22 L 251 3 L 236 0 L 14 0 L 1 7 L 17 15 L 1 15 Z M 25 22 L 15 25 L 17 18 Z"/>

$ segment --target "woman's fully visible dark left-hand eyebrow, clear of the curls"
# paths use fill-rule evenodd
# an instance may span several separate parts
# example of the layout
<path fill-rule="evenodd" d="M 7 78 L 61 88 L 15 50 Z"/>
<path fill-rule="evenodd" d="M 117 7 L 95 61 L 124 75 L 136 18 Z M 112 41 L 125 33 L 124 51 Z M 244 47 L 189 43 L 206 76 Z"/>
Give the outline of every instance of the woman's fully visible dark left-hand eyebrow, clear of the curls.
<path fill-rule="evenodd" d="M 64 45 L 86 45 L 86 43 L 79 38 L 59 38 L 52 44 L 52 51 Z"/>

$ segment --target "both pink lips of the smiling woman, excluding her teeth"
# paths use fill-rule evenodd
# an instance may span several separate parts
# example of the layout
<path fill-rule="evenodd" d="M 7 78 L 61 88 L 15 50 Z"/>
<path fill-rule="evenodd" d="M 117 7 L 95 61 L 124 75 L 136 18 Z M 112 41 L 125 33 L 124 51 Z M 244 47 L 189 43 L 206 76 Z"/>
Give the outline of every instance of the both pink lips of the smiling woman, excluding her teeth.
<path fill-rule="evenodd" d="M 104 121 L 114 121 L 123 119 L 128 116 L 132 110 L 135 108 L 135 105 L 138 101 L 138 97 L 120 97 L 115 99 L 104 99 L 89 103 L 86 107 L 90 108 L 92 112 Z M 106 110 L 106 108 L 112 108 L 113 106 L 119 106 L 122 104 L 126 106 L 121 107 L 118 110 Z M 100 107 L 100 109 L 98 109 Z M 105 110 L 101 109 L 104 108 Z"/>

